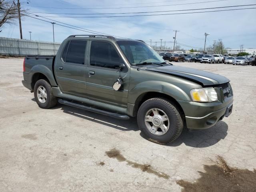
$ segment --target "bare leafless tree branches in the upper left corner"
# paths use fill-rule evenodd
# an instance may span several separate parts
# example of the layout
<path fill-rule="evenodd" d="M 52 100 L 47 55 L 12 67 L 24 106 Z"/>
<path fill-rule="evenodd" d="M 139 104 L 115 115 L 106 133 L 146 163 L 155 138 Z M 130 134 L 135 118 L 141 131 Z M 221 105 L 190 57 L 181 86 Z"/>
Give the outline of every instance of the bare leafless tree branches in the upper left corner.
<path fill-rule="evenodd" d="M 20 16 L 24 16 L 25 10 L 20 10 Z M 0 0 L 0 28 L 3 24 L 13 24 L 18 18 L 18 4 L 14 0 Z"/>

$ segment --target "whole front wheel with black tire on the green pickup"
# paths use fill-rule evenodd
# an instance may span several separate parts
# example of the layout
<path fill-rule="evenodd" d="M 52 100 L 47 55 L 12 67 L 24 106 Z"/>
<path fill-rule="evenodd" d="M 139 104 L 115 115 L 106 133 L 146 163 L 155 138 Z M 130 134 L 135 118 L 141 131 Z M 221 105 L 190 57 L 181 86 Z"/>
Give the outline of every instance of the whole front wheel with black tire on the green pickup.
<path fill-rule="evenodd" d="M 158 111 L 159 115 L 166 115 L 168 117 L 168 120 L 161 123 L 161 125 L 164 126 L 168 125 L 167 131 L 165 130 L 166 132 L 163 132 L 162 128 L 157 127 L 153 124 L 153 122 L 146 121 L 146 119 L 148 119 L 146 118 L 146 116 L 154 116 L 153 109 L 156 113 Z M 153 120 L 154 119 L 152 118 L 152 121 Z M 158 123 L 161 122 L 161 120 L 159 120 L 158 118 L 155 118 L 155 120 L 155 122 L 157 122 L 157 120 Z M 179 113 L 177 108 L 172 104 L 172 102 L 169 102 L 164 98 L 152 98 L 146 100 L 138 110 L 137 121 L 140 131 L 142 132 L 144 137 L 158 144 L 167 144 L 173 142 L 180 136 L 183 129 L 181 114 Z M 165 124 L 167 121 L 168 123 Z M 150 128 L 153 128 L 152 132 L 154 132 L 155 134 L 150 132 Z"/>

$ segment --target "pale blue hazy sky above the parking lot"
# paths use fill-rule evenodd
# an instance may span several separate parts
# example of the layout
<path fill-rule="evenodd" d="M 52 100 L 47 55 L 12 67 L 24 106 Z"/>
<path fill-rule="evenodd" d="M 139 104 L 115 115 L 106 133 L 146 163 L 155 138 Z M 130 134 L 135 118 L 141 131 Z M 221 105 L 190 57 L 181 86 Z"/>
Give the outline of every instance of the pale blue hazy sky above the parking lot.
<path fill-rule="evenodd" d="M 145 12 L 184 10 L 196 8 L 209 8 L 221 6 L 233 6 L 243 4 L 256 4 L 256 0 L 223 0 L 218 2 L 207 2 L 200 4 L 186 4 L 193 2 L 206 2 L 211 0 L 20 0 L 22 8 L 30 12 L 47 12 L 57 14 L 35 13 L 40 16 L 64 16 L 58 13 L 115 13 L 115 12 Z M 28 6 L 27 6 L 28 5 Z M 160 6 L 165 5 L 165 6 Z M 54 9 L 40 8 L 118 8 L 118 9 Z M 120 8 L 134 6 L 158 6 L 144 8 Z M 256 6 L 251 6 L 256 7 Z M 76 15 L 75 15 L 76 16 Z M 206 46 L 212 45 L 213 40 L 222 39 L 224 45 L 229 48 L 256 48 L 256 10 L 234 10 L 227 12 L 208 12 L 196 14 L 180 14 L 165 16 L 141 16 L 128 18 L 51 18 L 74 26 L 122 36 L 132 39 L 150 40 L 160 42 L 173 41 L 173 30 L 177 32 L 177 41 L 194 47 L 204 47 L 204 33 L 207 36 Z M 44 19 L 45 20 L 45 19 Z M 1 28 L 0 36 L 19 38 L 18 22 L 15 25 L 6 24 Z M 29 39 L 29 31 L 32 31 L 32 40 L 53 41 L 52 24 L 36 20 L 34 18 L 22 18 L 23 38 Z M 62 26 L 54 26 L 55 42 L 62 42 L 70 34 L 88 34 Z M 154 43 L 155 44 L 155 43 Z M 157 43 L 159 46 L 160 43 Z M 166 43 L 173 46 L 173 43 Z M 184 49 L 190 49 L 182 46 Z"/>

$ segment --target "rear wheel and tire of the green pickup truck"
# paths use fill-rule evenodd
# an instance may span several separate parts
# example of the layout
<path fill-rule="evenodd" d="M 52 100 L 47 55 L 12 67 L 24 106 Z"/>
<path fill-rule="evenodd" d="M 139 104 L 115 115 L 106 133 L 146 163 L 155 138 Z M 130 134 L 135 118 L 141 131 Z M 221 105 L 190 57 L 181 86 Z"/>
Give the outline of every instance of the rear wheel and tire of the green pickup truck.
<path fill-rule="evenodd" d="M 52 94 L 52 86 L 44 79 L 40 79 L 36 82 L 34 86 L 34 97 L 38 106 L 43 109 L 52 108 L 56 106 L 58 102 L 57 97 Z"/>

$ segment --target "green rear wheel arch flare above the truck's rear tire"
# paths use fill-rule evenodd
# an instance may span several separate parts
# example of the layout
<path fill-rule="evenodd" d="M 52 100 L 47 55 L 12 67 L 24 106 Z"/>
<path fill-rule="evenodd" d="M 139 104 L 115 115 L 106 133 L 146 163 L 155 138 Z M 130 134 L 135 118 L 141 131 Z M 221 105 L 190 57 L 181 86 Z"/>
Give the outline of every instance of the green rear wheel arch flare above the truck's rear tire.
<path fill-rule="evenodd" d="M 30 72 L 29 72 L 31 82 L 32 82 L 32 78 L 33 78 L 34 74 L 36 74 L 36 73 L 44 74 L 47 77 L 47 79 L 49 80 L 49 82 L 52 86 L 58 86 L 55 79 L 54 79 L 54 75 L 53 75 L 52 70 L 50 70 L 48 67 L 46 67 L 44 65 L 35 65 L 35 66 L 33 66 L 31 68 Z"/>

